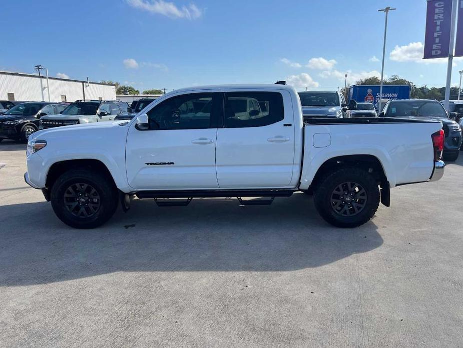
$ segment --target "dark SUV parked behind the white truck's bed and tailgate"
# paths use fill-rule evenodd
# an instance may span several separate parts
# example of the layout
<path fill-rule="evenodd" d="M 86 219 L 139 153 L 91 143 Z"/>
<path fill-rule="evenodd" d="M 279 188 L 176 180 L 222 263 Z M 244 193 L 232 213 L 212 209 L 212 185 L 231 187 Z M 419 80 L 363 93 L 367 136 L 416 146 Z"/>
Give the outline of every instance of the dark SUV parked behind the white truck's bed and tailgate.
<path fill-rule="evenodd" d="M 452 113 L 453 116 L 455 116 Z M 443 159 L 454 161 L 461 146 L 461 129 L 458 123 L 448 117 L 447 112 L 436 100 L 405 99 L 389 100 L 379 117 L 400 117 L 409 119 L 432 119 L 442 122 L 445 133 Z"/>

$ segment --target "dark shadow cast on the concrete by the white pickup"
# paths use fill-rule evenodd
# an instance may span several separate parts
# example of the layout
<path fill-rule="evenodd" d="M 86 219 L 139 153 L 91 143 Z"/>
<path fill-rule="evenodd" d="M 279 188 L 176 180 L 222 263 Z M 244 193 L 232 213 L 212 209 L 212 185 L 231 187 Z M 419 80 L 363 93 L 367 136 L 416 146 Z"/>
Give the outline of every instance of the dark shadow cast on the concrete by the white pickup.
<path fill-rule="evenodd" d="M 94 230 L 62 224 L 49 203 L 0 207 L 0 286 L 46 284 L 112 272 L 291 271 L 378 248 L 374 220 L 357 229 L 326 224 L 312 198 L 271 206 L 197 199 L 159 208 L 134 200 Z"/>

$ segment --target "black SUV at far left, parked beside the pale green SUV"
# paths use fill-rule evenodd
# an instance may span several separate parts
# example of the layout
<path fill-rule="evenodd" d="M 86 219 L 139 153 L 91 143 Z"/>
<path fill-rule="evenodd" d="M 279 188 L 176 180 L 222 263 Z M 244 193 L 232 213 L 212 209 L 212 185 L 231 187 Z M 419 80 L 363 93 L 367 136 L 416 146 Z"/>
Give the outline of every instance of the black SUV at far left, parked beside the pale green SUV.
<path fill-rule="evenodd" d="M 59 114 L 68 103 L 26 102 L 12 107 L 0 115 L 0 141 L 3 139 L 27 142 L 39 129 L 42 116 Z"/>

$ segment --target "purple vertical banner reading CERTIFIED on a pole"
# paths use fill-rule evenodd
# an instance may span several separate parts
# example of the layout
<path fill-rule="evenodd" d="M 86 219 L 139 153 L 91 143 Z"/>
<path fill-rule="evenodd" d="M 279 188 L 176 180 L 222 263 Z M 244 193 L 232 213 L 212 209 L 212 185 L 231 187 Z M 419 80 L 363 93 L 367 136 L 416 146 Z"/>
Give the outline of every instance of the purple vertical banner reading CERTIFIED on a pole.
<path fill-rule="evenodd" d="M 424 59 L 448 57 L 451 12 L 452 0 L 427 1 Z"/>

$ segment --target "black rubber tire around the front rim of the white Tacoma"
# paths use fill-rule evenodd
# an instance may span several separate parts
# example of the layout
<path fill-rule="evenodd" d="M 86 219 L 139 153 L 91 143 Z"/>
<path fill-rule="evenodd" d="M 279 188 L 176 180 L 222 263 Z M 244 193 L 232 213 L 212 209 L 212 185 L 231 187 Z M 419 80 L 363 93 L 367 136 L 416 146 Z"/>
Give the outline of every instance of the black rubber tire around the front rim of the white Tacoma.
<path fill-rule="evenodd" d="M 93 216 L 75 216 L 65 205 L 65 193 L 71 185 L 78 183 L 90 185 L 98 193 L 100 206 Z M 91 169 L 74 169 L 63 173 L 53 184 L 51 203 L 55 214 L 66 225 L 91 229 L 103 225 L 114 215 L 119 203 L 119 195 L 112 178 Z"/>

